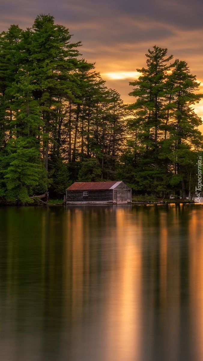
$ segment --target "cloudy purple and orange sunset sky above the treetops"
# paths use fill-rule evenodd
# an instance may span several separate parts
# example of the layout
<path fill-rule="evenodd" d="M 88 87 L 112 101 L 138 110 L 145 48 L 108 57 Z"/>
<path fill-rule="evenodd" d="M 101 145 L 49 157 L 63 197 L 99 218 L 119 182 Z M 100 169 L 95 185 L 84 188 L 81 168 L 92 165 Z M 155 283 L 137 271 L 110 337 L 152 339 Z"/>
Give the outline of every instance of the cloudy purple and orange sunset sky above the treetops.
<path fill-rule="evenodd" d="M 202 0 L 0 0 L 0 32 L 12 24 L 31 27 L 39 14 L 54 16 L 69 28 L 72 41 L 81 40 L 85 60 L 96 62 L 106 85 L 125 103 L 135 100 L 128 96 L 129 81 L 154 45 L 186 61 L 203 92 Z M 195 111 L 203 119 L 203 100 Z"/>

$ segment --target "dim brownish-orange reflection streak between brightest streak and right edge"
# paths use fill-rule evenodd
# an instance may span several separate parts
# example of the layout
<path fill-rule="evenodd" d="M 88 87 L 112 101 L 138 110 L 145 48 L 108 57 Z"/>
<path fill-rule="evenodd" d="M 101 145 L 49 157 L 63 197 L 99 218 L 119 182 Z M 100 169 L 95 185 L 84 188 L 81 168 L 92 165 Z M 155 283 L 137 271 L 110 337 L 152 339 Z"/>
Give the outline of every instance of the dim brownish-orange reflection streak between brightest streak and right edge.
<path fill-rule="evenodd" d="M 179 229 L 174 222 L 173 231 L 178 238 Z M 178 360 L 180 325 L 180 249 L 169 242 L 167 214 L 160 217 L 160 312 L 163 346 L 168 360 Z M 167 327 L 166 327 L 167 325 Z M 164 332 L 165 330 L 165 332 Z"/>

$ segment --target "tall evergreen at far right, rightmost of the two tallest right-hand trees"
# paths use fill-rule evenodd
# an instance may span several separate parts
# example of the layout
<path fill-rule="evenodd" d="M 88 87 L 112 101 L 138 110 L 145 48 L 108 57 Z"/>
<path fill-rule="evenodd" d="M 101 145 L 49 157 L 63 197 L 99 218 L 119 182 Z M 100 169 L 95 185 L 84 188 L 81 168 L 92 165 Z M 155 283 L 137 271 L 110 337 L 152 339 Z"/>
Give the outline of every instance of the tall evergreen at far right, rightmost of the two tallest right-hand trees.
<path fill-rule="evenodd" d="M 169 121 L 171 130 L 168 134 L 168 140 L 172 145 L 168 157 L 174 165 L 171 182 L 178 192 L 182 188 L 184 199 L 185 184 L 189 183 L 190 174 L 195 170 L 198 151 L 202 151 L 203 136 L 198 130 L 202 120 L 192 106 L 202 99 L 203 94 L 197 93 L 200 83 L 196 81 L 195 75 L 190 74 L 187 63 L 178 59 L 174 63 L 174 69 L 166 85 L 171 89 Z M 179 187 L 180 183 L 181 187 Z"/>

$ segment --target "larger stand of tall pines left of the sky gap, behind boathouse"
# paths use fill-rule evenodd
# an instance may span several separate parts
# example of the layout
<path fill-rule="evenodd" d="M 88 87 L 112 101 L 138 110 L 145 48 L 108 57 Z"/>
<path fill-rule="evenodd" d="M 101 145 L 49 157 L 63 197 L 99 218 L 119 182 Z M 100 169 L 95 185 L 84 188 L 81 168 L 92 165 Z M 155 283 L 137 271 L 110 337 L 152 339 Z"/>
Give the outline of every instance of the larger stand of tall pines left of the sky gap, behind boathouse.
<path fill-rule="evenodd" d="M 0 34 L 0 196 L 21 203 L 72 181 L 114 179 L 124 105 L 50 15 Z"/>

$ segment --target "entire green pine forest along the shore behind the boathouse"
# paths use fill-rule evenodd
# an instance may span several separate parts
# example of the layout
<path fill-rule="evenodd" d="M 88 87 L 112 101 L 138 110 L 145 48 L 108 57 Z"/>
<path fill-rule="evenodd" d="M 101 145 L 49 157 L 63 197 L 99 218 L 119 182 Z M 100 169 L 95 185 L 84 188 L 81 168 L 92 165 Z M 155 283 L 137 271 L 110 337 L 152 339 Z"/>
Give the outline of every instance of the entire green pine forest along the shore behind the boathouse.
<path fill-rule="evenodd" d="M 134 103 L 80 53 L 81 42 L 40 15 L 0 34 L 0 198 L 63 197 L 74 181 L 123 180 L 134 194 L 183 199 L 197 185 L 199 83 L 166 48 L 146 54 Z M 136 59 L 135 59 L 136 64 Z"/>

